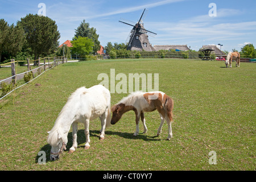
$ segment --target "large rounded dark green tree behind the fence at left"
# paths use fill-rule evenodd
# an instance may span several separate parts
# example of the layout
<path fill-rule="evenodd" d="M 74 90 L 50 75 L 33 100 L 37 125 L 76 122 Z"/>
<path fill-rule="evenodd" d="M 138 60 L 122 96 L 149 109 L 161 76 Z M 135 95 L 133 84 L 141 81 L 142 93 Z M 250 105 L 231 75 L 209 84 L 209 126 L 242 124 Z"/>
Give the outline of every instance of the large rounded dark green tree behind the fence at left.
<path fill-rule="evenodd" d="M 34 53 L 35 60 L 39 56 L 47 56 L 53 53 L 59 45 L 60 32 L 54 20 L 47 16 L 28 14 L 21 18 L 17 24 L 23 27 L 26 35 L 26 47 Z M 36 65 L 37 62 L 35 61 Z"/>

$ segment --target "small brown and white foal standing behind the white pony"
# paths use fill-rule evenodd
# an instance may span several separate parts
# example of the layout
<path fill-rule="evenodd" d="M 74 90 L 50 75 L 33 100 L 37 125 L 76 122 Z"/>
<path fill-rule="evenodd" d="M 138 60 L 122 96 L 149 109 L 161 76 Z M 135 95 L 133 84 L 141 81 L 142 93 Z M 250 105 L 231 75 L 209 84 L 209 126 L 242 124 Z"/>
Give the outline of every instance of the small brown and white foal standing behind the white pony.
<path fill-rule="evenodd" d="M 112 106 L 112 119 L 111 124 L 114 125 L 121 119 L 123 113 L 126 113 L 129 110 L 133 110 L 136 115 L 136 131 L 133 134 L 137 136 L 139 133 L 139 117 L 143 123 L 144 132 L 147 133 L 147 126 L 145 123 L 144 112 L 151 112 L 158 110 L 161 118 L 161 123 L 158 128 L 157 135 L 160 135 L 162 132 L 162 126 L 164 120 L 168 124 L 168 137 L 167 140 L 170 140 L 172 137 L 172 127 L 171 122 L 173 121 L 172 109 L 174 108 L 174 101 L 172 98 L 167 96 L 163 92 L 134 92 L 129 96 L 123 98 L 119 101 L 118 104 Z"/>

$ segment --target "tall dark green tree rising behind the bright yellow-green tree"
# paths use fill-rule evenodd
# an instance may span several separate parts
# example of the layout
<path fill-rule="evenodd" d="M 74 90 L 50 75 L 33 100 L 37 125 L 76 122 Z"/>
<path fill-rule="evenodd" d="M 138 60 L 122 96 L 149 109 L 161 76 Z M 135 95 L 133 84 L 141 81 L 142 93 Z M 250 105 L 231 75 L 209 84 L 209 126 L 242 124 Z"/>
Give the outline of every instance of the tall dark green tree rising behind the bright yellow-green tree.
<path fill-rule="evenodd" d="M 75 40 L 75 38 L 78 38 L 79 36 L 81 36 L 82 38 L 89 38 L 89 39 L 93 40 L 93 43 L 94 43 L 93 52 L 94 53 L 96 53 L 98 50 L 100 50 L 101 46 L 100 46 L 100 41 L 98 41 L 99 35 L 96 34 L 96 28 L 93 28 L 93 27 L 90 28 L 90 24 L 85 23 L 85 19 L 82 20 L 79 27 L 77 27 L 77 29 L 75 29 L 75 37 L 73 38 L 73 40 Z"/>

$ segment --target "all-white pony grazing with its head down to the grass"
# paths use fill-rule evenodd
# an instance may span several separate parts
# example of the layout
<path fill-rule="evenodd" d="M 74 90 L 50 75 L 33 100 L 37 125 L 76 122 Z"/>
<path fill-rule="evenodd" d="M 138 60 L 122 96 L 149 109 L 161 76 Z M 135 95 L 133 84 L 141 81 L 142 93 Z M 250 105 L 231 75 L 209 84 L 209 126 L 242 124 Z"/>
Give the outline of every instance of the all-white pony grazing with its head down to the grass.
<path fill-rule="evenodd" d="M 73 153 L 77 148 L 77 123 L 84 123 L 85 126 L 85 149 L 90 147 L 89 122 L 92 119 L 100 117 L 101 130 L 100 139 L 105 136 L 105 128 L 110 126 L 110 92 L 102 85 L 95 85 L 86 89 L 81 87 L 77 89 L 68 98 L 67 103 L 60 111 L 55 124 L 47 138 L 47 142 L 52 146 L 51 160 L 59 159 L 59 154 L 63 152 L 68 143 L 68 131 L 72 125 L 73 145 L 69 153 Z"/>

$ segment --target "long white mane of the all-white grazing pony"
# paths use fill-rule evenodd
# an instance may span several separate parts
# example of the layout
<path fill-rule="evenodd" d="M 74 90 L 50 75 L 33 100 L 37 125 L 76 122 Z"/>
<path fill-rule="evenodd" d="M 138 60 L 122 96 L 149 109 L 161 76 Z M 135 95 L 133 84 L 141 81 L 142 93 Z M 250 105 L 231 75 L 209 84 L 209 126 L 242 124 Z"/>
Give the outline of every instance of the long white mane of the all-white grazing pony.
<path fill-rule="evenodd" d="M 64 136 L 63 128 L 60 127 L 61 121 L 63 121 L 63 118 L 65 117 L 65 113 L 69 111 L 73 107 L 73 100 L 75 100 L 77 97 L 81 96 L 81 93 L 85 93 L 86 88 L 82 86 L 81 88 L 76 89 L 75 92 L 71 94 L 71 96 L 68 98 L 67 103 L 64 105 L 63 109 L 60 111 L 59 116 L 57 117 L 54 126 L 52 127 L 51 131 L 49 131 L 49 135 L 47 138 L 47 142 L 51 146 L 56 146 L 57 141 L 61 138 L 62 142 L 67 143 L 67 137 Z"/>

